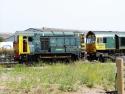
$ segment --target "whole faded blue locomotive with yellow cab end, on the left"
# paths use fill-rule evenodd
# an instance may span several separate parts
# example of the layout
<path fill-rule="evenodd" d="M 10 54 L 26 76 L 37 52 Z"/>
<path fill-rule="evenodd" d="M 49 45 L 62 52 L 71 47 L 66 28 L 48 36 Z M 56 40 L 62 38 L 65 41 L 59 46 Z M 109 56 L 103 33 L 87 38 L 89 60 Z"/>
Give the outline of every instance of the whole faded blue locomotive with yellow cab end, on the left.
<path fill-rule="evenodd" d="M 72 59 L 81 57 L 80 33 L 30 28 L 14 35 L 15 60 Z"/>

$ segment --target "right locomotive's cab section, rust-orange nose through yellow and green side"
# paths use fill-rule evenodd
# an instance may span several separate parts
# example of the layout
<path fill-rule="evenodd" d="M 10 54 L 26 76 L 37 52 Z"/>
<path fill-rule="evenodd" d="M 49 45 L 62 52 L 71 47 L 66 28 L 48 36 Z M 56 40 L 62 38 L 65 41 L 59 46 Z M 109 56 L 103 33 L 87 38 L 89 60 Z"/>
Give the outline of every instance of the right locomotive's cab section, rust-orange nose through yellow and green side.
<path fill-rule="evenodd" d="M 111 31 L 89 31 L 86 35 L 86 51 L 92 60 L 111 57 L 115 50 L 115 33 Z"/>

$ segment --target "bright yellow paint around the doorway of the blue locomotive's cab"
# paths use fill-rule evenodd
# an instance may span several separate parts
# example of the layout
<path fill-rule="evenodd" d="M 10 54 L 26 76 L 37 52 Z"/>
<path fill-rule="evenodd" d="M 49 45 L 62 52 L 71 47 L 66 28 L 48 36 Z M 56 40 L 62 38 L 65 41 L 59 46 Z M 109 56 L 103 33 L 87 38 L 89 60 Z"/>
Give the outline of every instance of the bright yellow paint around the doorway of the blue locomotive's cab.
<path fill-rule="evenodd" d="M 30 54 L 30 47 L 27 40 L 27 52 L 23 52 L 23 36 L 19 35 L 19 54 Z"/>

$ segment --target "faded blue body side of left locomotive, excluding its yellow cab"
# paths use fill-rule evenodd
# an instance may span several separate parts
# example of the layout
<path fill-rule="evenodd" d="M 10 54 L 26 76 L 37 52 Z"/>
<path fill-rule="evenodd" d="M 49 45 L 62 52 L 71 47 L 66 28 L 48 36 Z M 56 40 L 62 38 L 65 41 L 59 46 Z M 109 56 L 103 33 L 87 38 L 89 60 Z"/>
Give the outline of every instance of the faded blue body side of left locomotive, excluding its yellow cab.
<path fill-rule="evenodd" d="M 42 32 L 33 36 L 34 55 L 37 58 L 79 58 L 80 38 L 73 32 Z"/>

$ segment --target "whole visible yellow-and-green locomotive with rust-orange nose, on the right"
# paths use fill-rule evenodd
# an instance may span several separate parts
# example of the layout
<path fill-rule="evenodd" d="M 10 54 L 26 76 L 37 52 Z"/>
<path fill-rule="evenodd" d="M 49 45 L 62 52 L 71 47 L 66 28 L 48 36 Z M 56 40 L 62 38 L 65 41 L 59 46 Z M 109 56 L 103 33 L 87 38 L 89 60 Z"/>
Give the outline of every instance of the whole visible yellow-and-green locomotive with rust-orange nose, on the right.
<path fill-rule="evenodd" d="M 107 58 L 125 55 L 125 32 L 89 31 L 86 34 L 86 52 L 89 60 L 104 62 Z"/>

